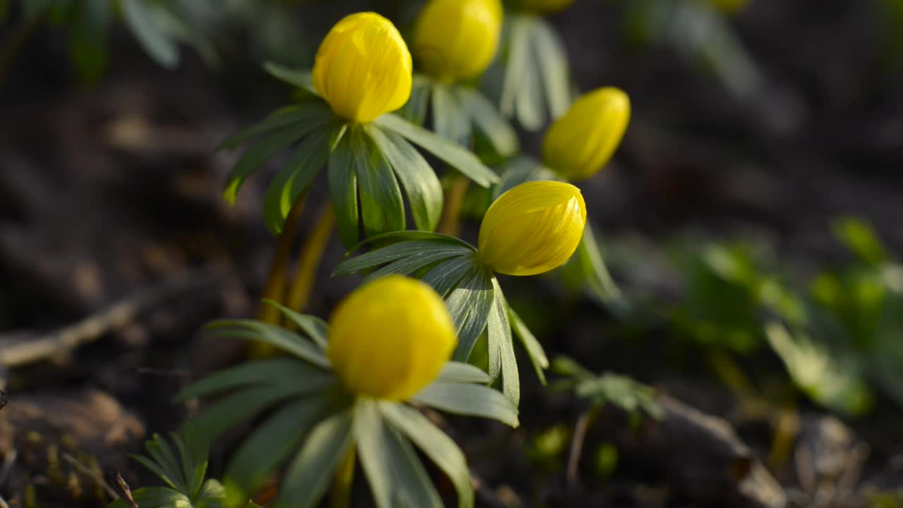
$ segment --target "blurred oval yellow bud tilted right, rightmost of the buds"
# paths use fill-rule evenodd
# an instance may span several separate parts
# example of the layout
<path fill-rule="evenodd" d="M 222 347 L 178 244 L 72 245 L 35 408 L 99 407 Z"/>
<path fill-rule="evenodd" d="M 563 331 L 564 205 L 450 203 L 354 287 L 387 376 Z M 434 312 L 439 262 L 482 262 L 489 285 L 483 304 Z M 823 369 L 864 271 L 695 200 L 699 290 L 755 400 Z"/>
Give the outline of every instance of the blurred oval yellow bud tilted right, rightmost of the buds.
<path fill-rule="evenodd" d="M 577 99 L 545 133 L 543 161 L 569 180 L 589 178 L 608 164 L 630 121 L 630 99 L 606 87 Z"/>

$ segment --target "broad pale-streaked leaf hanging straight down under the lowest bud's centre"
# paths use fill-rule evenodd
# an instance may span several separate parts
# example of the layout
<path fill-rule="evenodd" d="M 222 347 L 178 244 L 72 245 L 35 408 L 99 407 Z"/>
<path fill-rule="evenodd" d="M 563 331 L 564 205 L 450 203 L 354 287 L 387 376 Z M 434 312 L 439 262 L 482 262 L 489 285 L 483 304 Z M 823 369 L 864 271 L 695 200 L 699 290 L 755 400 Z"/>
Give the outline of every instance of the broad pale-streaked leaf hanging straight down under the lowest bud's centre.
<path fill-rule="evenodd" d="M 358 400 L 354 414 L 360 465 L 378 508 L 442 508 L 430 476 L 414 449 L 385 425 L 376 400 Z"/>

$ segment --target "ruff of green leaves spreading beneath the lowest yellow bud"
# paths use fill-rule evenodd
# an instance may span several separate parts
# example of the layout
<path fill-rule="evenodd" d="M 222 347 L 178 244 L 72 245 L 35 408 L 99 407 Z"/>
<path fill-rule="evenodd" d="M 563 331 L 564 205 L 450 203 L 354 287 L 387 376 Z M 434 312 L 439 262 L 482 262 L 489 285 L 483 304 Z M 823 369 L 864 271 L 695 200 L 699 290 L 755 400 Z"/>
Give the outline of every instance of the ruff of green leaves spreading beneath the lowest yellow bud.
<path fill-rule="evenodd" d="M 441 507 L 415 446 L 449 476 L 459 506 L 472 506 L 470 472 L 452 439 L 404 403 L 347 392 L 326 358 L 326 323 L 279 308 L 309 338 L 255 320 L 215 323 L 211 329 L 219 335 L 267 343 L 287 356 L 217 372 L 177 395 L 180 401 L 224 395 L 191 420 L 208 439 L 266 415 L 229 460 L 226 505 L 245 503 L 268 474 L 287 463 L 275 508 L 315 506 L 355 448 L 378 507 Z M 516 427 L 517 409 L 488 382 L 478 368 L 449 362 L 411 402 Z"/>

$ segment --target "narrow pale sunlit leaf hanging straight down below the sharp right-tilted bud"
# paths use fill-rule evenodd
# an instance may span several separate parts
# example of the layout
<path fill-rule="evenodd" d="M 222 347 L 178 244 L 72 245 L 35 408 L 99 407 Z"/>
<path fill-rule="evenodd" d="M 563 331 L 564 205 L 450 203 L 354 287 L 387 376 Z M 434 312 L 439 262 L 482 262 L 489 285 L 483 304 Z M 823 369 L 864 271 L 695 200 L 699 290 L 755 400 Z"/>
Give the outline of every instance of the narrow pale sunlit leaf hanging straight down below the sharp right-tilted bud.
<path fill-rule="evenodd" d="M 489 338 L 489 377 L 493 379 L 496 377 L 496 372 L 493 372 L 493 352 L 496 352 L 501 366 L 501 372 L 498 373 L 502 376 L 502 392 L 517 408 L 520 405 L 520 373 L 517 369 L 511 325 L 508 322 L 508 306 L 497 278 L 492 278 L 492 287 L 495 299 L 486 324 Z"/>

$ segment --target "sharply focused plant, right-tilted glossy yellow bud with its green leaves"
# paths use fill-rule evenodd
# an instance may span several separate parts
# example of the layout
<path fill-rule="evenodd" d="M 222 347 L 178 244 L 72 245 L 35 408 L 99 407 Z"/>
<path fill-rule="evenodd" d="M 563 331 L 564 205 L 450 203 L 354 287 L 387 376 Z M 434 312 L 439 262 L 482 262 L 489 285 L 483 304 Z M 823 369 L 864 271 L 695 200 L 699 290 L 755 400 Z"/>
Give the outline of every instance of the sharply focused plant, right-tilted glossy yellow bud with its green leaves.
<path fill-rule="evenodd" d="M 377 249 L 346 259 L 333 275 L 376 268 L 368 279 L 402 274 L 424 280 L 452 312 L 459 337 L 454 360 L 477 362 L 475 354 L 483 352 L 489 379 L 500 379 L 502 390 L 517 405 L 520 379 L 513 335 L 524 344 L 541 379 L 548 360 L 542 345 L 507 305 L 495 274 L 528 276 L 560 267 L 580 244 L 585 225 L 586 204 L 577 187 L 524 183 L 489 207 L 478 247 L 440 234 L 390 233 L 365 243 Z M 478 341 L 483 343 L 479 348 Z"/>

